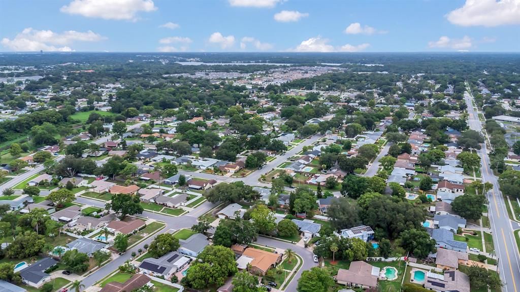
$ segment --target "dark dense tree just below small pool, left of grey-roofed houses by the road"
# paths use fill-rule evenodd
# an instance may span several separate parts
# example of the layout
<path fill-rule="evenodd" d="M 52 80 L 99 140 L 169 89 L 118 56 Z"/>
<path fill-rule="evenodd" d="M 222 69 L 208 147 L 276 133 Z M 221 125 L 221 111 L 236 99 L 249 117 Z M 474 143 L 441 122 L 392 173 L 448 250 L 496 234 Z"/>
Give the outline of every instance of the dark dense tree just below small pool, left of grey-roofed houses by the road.
<path fill-rule="evenodd" d="M 435 251 L 435 240 L 425 230 L 405 230 L 401 232 L 399 243 L 406 251 L 421 259 Z"/>

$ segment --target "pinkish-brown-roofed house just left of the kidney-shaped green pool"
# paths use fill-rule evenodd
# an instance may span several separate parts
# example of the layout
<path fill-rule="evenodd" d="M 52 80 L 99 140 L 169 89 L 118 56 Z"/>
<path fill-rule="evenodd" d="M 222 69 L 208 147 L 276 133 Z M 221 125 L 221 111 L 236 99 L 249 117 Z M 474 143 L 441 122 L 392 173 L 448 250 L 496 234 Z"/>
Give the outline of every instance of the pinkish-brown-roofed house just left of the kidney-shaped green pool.
<path fill-rule="evenodd" d="M 339 269 L 334 276 L 338 284 L 356 288 L 376 288 L 380 269 L 364 261 L 353 261 L 348 270 Z"/>

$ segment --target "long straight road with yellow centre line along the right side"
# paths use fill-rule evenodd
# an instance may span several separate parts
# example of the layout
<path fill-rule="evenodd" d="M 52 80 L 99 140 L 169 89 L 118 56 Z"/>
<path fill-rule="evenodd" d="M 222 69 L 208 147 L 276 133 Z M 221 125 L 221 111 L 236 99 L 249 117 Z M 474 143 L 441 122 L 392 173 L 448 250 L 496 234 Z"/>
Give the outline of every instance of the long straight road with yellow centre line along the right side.
<path fill-rule="evenodd" d="M 478 119 L 478 112 L 473 108 L 473 96 L 465 92 L 464 99 L 467 104 L 468 124 L 472 130 L 482 130 L 482 122 Z M 520 256 L 516 246 L 512 221 L 506 210 L 504 197 L 500 192 L 498 178 L 493 175 L 489 167 L 490 161 L 486 144 L 477 153 L 482 157 L 482 180 L 493 184 L 493 189 L 487 193 L 488 216 L 491 222 L 493 243 L 495 252 L 499 258 L 499 273 L 504 284 L 502 290 L 506 292 L 517 292 L 520 289 Z M 518 224 L 516 224 L 518 226 Z"/>

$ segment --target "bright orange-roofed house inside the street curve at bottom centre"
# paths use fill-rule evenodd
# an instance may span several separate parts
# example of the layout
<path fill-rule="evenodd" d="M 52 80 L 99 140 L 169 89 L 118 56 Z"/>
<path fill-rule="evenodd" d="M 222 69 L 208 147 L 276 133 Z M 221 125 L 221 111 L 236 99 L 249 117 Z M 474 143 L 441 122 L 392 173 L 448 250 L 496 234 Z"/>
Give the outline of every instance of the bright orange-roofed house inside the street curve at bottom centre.
<path fill-rule="evenodd" d="M 265 275 L 267 270 L 276 267 L 278 263 L 282 261 L 282 254 L 271 253 L 270 251 L 257 249 L 257 248 L 246 248 L 242 253 L 242 256 L 237 260 L 239 263 L 239 269 L 243 269 L 244 266 L 240 263 L 250 264 L 249 271 L 258 275 Z"/>

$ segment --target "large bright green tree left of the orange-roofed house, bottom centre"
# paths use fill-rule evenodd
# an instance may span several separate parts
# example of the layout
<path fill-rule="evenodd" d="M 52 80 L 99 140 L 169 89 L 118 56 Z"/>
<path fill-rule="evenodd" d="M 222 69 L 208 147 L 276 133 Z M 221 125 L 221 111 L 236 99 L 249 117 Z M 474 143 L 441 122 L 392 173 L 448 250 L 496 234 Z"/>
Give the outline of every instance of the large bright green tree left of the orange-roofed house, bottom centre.
<path fill-rule="evenodd" d="M 222 286 L 229 276 L 238 272 L 235 254 L 224 246 L 209 245 L 197 259 L 181 281 L 194 289 Z"/>

